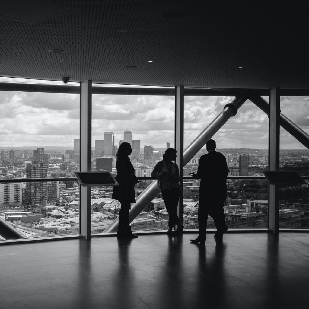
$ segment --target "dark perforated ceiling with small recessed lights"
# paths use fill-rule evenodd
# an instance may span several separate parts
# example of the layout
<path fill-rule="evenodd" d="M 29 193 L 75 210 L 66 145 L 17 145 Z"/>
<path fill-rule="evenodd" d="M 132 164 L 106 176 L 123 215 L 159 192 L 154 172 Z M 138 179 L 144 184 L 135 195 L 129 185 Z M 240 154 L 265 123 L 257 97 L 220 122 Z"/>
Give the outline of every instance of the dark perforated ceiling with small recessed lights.
<path fill-rule="evenodd" d="M 307 14 L 307 1 L 1 1 L 0 76 L 309 88 Z"/>

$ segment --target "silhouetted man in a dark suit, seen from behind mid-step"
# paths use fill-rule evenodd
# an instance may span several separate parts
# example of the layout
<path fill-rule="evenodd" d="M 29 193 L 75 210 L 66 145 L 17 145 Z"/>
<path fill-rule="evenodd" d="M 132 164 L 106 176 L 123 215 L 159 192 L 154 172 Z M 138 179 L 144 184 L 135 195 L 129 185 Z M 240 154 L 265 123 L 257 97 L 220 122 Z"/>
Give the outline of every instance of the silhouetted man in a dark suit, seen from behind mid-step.
<path fill-rule="evenodd" d="M 224 231 L 227 231 L 224 215 L 224 201 L 227 188 L 226 178 L 229 169 L 222 153 L 215 150 L 216 142 L 210 139 L 206 142 L 208 153 L 202 155 L 197 169 L 197 177 L 201 177 L 198 199 L 198 224 L 199 235 L 197 239 L 190 239 L 193 243 L 205 245 L 207 218 L 210 215 L 214 219 L 217 232 L 214 235 L 216 241 L 222 241 Z"/>

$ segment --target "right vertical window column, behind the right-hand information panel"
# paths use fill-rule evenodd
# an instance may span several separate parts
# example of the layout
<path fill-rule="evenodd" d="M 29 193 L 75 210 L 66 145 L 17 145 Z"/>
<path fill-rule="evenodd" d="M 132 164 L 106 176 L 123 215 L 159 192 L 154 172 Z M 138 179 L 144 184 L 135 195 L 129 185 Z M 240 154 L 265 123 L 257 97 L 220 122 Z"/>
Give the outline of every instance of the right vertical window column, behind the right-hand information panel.
<path fill-rule="evenodd" d="M 280 88 L 269 89 L 269 171 L 279 171 Z M 269 230 L 279 232 L 278 185 L 269 184 Z"/>

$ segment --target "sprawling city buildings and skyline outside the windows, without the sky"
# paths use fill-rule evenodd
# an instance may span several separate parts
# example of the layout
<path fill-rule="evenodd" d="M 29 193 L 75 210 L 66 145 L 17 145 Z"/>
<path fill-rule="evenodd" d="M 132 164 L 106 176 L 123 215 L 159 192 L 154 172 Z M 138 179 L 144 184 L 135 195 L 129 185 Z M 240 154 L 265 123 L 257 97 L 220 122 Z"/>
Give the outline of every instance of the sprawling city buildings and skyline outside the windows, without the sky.
<path fill-rule="evenodd" d="M 138 197 L 153 181 L 150 177 L 155 164 L 162 160 L 165 149 L 145 145 L 134 139 L 134 132 L 126 129 L 123 138 L 115 141 L 114 133 L 104 132 L 94 141 L 91 151 L 92 171 L 110 171 L 116 176 L 116 153 L 122 142 L 132 146 L 131 162 L 141 182 L 135 185 Z M 75 178 L 79 171 L 80 141 L 74 139 L 68 147 L 3 147 L 0 149 L 0 178 L 20 179 L 18 183 L 0 183 L 0 216 L 10 222 L 25 237 L 44 237 L 79 233 L 79 184 L 70 181 L 42 181 L 23 183 L 23 178 Z M 229 228 L 267 228 L 268 182 L 265 179 L 237 179 L 237 176 L 263 177 L 268 169 L 267 149 L 217 149 L 225 157 L 230 169 L 227 180 L 228 197 L 225 203 Z M 200 150 L 184 167 L 183 219 L 186 229 L 197 229 L 199 179 L 190 179 L 196 172 Z M 280 168 L 298 171 L 309 176 L 309 150 L 280 150 Z M 145 177 L 145 180 L 143 180 Z M 91 188 L 92 233 L 101 233 L 117 218 L 120 203 L 112 200 L 112 187 Z M 309 224 L 309 188 L 307 185 L 280 188 L 280 225 L 282 228 L 306 228 Z M 132 222 L 132 229 L 161 230 L 167 228 L 168 214 L 158 194 Z M 208 227 L 214 228 L 212 218 Z"/>

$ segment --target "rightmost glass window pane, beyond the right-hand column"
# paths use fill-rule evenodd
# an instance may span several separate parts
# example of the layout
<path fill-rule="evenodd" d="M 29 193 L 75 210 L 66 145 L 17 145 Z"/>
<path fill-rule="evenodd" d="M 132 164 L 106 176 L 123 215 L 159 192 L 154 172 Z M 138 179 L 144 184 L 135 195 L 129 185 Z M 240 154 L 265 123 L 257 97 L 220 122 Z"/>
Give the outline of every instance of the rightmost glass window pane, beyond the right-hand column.
<path fill-rule="evenodd" d="M 280 109 L 299 129 L 309 134 L 307 96 L 281 96 Z M 309 176 L 309 150 L 294 136 L 280 128 L 280 169 Z M 306 180 L 308 182 L 308 180 Z M 279 228 L 309 228 L 309 188 L 307 184 L 289 184 L 279 189 Z"/>

